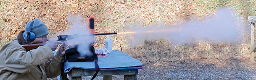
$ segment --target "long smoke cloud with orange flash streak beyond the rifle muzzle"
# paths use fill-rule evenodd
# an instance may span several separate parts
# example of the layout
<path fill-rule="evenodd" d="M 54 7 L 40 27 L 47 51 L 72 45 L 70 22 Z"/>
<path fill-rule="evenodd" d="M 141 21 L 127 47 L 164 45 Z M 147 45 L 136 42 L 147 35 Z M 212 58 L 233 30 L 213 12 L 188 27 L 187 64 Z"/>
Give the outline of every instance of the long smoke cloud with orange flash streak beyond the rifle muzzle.
<path fill-rule="evenodd" d="M 183 26 L 168 27 L 166 25 L 136 26 L 131 28 L 134 39 L 131 46 L 140 45 L 145 40 L 164 38 L 174 44 L 190 44 L 198 40 L 210 42 L 236 43 L 240 41 L 240 30 L 237 19 L 230 8 L 222 8 L 216 16 L 202 21 L 188 21 Z"/>

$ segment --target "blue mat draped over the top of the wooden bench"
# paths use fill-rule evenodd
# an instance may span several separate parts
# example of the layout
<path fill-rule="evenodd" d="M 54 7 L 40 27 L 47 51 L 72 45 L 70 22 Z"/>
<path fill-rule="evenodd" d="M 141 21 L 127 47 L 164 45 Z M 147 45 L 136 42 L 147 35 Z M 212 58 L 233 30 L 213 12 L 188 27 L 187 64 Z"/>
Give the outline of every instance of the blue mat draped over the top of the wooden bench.
<path fill-rule="evenodd" d="M 98 65 L 100 70 L 129 70 L 142 69 L 140 60 L 130 57 L 128 54 L 113 50 L 107 57 L 98 56 Z M 64 72 L 69 72 L 72 68 L 81 68 L 86 70 L 95 70 L 95 62 L 68 62 L 64 64 Z"/>

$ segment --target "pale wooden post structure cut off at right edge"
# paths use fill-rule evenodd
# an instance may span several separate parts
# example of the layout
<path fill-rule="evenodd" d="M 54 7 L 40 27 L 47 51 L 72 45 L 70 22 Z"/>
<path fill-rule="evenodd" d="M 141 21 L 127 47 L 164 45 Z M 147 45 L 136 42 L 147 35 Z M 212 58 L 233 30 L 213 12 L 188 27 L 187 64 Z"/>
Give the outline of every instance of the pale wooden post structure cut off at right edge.
<path fill-rule="evenodd" d="M 256 42 L 254 42 L 255 36 L 255 23 L 256 23 L 256 16 L 248 16 L 248 21 L 251 22 L 251 48 L 250 48 L 250 61 L 254 61 L 254 54 L 256 52 Z"/>

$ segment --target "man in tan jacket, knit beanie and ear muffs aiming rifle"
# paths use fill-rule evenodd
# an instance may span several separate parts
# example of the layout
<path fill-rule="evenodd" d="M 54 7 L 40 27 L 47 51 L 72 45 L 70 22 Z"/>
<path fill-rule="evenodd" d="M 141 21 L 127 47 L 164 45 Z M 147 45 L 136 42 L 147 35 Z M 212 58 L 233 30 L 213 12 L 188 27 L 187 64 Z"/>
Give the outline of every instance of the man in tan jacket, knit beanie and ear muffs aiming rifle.
<path fill-rule="evenodd" d="M 0 49 L 0 80 L 47 80 L 61 73 L 61 62 L 69 48 L 64 42 L 49 40 L 45 23 L 35 18 L 11 42 Z M 41 44 L 32 50 L 22 45 Z M 56 55 L 59 44 L 62 44 Z"/>

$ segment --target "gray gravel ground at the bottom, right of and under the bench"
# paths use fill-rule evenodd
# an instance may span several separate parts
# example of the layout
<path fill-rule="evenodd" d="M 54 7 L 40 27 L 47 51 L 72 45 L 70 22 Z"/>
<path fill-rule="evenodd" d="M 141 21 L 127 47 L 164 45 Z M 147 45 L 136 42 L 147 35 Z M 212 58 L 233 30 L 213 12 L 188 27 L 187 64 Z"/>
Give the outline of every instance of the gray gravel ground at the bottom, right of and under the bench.
<path fill-rule="evenodd" d="M 82 77 L 82 80 L 91 77 Z M 113 75 L 112 79 L 124 80 L 124 75 Z M 103 80 L 103 76 L 94 80 Z M 150 63 L 138 70 L 137 80 L 256 80 L 256 63 L 249 62 L 248 58 Z"/>

